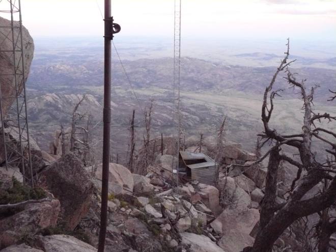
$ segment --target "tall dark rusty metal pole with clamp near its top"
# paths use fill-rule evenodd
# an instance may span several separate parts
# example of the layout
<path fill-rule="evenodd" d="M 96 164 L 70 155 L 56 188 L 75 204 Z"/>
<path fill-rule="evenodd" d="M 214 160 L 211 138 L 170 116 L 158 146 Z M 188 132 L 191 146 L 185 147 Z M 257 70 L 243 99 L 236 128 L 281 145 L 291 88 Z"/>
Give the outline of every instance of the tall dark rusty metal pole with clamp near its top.
<path fill-rule="evenodd" d="M 103 111 L 103 171 L 101 186 L 101 212 L 98 252 L 105 248 L 107 226 L 107 200 L 108 200 L 108 168 L 110 149 L 110 122 L 111 122 L 111 0 L 105 0 L 104 19 L 104 111 Z"/>

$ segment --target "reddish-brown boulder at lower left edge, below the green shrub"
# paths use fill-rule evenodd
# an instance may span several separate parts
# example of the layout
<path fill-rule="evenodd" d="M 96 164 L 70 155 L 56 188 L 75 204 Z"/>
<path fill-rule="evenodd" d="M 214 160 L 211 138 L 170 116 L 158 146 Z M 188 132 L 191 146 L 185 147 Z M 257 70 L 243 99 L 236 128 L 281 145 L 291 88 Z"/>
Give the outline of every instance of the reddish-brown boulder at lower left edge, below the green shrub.
<path fill-rule="evenodd" d="M 56 199 L 26 204 L 22 208 L 0 219 L 0 249 L 15 244 L 27 234 L 54 227 L 61 210 L 60 201 Z"/>

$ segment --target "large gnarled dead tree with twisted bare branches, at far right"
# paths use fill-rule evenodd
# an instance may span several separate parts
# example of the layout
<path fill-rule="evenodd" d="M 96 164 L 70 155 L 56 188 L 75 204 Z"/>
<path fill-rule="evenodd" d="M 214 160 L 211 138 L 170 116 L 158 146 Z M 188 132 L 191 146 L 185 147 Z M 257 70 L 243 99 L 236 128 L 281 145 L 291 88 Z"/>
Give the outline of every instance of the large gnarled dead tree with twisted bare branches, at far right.
<path fill-rule="evenodd" d="M 292 223 L 304 216 L 323 211 L 330 207 L 336 200 L 336 176 L 335 162 L 329 165 L 327 162 L 318 161 L 312 150 L 312 141 L 321 141 L 331 149 L 326 149 L 328 154 L 336 157 L 336 143 L 329 138 L 336 139 L 336 134 L 321 127 L 316 123 L 321 120 L 336 121 L 327 113 L 315 114 L 313 110 L 313 96 L 315 87 L 307 91 L 304 80 L 298 81 L 288 66 L 294 62 L 287 62 L 289 58 L 289 40 L 285 58 L 277 68 L 270 84 L 266 87 L 262 105 L 262 122 L 264 132 L 260 134 L 265 142 L 273 145 L 269 153 L 268 171 L 266 175 L 265 195 L 261 203 L 260 229 L 256 235 L 253 247 L 246 247 L 248 252 L 270 252 L 274 242 Z M 303 127 L 302 132 L 291 134 L 279 134 L 276 129 L 270 128 L 269 122 L 274 109 L 274 98 L 281 90 L 272 91 L 275 79 L 282 71 L 286 73 L 286 80 L 293 89 L 299 89 L 303 101 Z M 328 135 L 327 137 L 325 135 Z M 282 148 L 289 146 L 298 152 L 298 158 L 294 159 L 281 152 Z M 295 153 L 295 151 L 294 151 Z M 276 203 L 277 173 L 281 160 L 289 162 L 298 168 L 297 176 L 292 182 L 291 190 L 284 203 Z M 319 184 L 322 180 L 328 180 L 328 186 L 324 192 L 312 198 L 302 200 L 302 197 Z"/>

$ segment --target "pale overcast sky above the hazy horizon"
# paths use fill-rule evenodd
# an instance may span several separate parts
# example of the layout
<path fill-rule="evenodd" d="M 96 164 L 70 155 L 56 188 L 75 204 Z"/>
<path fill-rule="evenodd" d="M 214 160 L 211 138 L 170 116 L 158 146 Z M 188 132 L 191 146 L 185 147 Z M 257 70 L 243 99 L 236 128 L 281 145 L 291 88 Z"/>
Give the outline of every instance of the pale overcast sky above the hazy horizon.
<path fill-rule="evenodd" d="M 112 3 L 123 36 L 173 36 L 174 0 Z M 34 37 L 102 35 L 102 0 L 21 4 L 23 23 Z M 182 0 L 182 36 L 336 40 L 336 0 Z"/>

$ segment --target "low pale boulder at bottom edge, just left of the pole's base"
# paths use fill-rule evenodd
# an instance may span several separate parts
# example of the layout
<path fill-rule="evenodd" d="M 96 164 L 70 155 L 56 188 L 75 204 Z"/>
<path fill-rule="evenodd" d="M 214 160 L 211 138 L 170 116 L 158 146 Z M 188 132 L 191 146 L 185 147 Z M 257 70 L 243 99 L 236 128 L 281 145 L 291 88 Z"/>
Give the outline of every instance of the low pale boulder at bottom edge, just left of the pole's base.
<path fill-rule="evenodd" d="M 96 252 L 97 249 L 88 243 L 69 235 L 37 236 L 34 246 L 44 252 Z"/>

